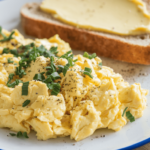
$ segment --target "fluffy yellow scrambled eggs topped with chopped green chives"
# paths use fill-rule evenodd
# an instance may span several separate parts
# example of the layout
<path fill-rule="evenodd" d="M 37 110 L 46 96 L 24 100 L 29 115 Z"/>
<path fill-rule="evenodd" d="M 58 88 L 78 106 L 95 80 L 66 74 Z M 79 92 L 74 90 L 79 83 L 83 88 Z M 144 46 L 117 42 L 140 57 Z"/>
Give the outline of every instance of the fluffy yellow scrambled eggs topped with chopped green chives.
<path fill-rule="evenodd" d="M 39 140 L 79 141 L 99 128 L 119 131 L 143 115 L 147 94 L 95 53 L 73 55 L 58 35 L 30 40 L 0 28 L 0 127 L 18 137 L 34 130 Z"/>

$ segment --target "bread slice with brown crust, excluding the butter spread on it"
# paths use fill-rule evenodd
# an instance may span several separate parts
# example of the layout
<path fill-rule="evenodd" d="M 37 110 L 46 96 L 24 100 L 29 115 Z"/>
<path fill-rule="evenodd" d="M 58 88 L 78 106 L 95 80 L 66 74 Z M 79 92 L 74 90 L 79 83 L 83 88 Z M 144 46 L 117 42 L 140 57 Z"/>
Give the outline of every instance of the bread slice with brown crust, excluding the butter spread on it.
<path fill-rule="evenodd" d="M 29 3 L 21 9 L 21 23 L 26 34 L 38 38 L 59 34 L 72 49 L 96 52 L 99 56 L 129 63 L 150 64 L 150 34 L 118 36 L 79 29 L 56 20 L 39 6 Z"/>

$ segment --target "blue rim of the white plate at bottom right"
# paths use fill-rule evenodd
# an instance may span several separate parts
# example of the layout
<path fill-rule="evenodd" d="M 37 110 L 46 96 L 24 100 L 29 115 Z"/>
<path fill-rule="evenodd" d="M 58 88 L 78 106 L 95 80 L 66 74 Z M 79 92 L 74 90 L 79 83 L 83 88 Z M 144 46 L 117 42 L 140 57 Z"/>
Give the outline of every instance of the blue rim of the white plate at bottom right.
<path fill-rule="evenodd" d="M 127 147 L 120 148 L 118 150 L 132 150 L 132 149 L 138 148 L 140 146 L 143 146 L 143 145 L 145 145 L 145 144 L 147 144 L 149 142 L 150 142 L 150 138 L 147 138 L 147 139 L 145 139 L 145 140 L 143 140 L 141 142 L 135 143 L 135 144 L 127 146 Z M 4 150 L 4 149 L 0 149 L 0 150 Z"/>

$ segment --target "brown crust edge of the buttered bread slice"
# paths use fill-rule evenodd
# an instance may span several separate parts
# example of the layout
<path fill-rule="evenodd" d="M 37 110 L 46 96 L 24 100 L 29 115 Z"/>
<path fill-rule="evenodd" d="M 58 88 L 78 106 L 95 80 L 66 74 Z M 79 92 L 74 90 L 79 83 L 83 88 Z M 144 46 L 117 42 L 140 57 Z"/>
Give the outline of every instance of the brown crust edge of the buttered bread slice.
<path fill-rule="evenodd" d="M 72 49 L 95 52 L 99 56 L 134 64 L 150 64 L 150 45 L 135 45 L 72 26 L 34 19 L 22 11 L 21 24 L 26 34 L 37 38 L 49 38 L 59 34 Z"/>

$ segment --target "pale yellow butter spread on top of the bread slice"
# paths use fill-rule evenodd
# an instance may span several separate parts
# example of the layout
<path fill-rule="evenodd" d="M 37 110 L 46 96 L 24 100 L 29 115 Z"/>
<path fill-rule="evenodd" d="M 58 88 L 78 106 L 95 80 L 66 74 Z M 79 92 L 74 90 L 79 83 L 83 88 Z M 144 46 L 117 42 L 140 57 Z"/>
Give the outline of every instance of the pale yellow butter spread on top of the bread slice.
<path fill-rule="evenodd" d="M 140 0 L 43 0 L 40 8 L 57 20 L 83 29 L 119 35 L 150 32 L 149 13 Z"/>

